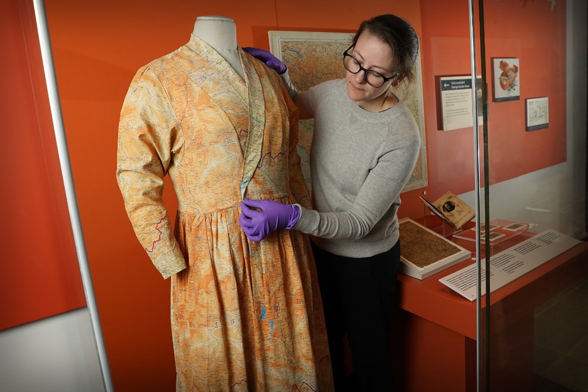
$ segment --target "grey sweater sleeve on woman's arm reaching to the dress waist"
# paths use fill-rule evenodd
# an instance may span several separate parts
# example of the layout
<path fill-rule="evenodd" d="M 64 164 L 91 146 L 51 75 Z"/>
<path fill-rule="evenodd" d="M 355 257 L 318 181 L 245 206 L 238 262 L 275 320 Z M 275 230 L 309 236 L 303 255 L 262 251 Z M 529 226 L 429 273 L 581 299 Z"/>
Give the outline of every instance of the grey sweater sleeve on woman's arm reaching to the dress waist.
<path fill-rule="evenodd" d="M 322 213 L 303 208 L 292 229 L 326 239 L 353 241 L 362 238 L 399 197 L 415 167 L 419 148 L 418 136 L 407 135 L 402 145 L 380 156 L 347 211 Z"/>

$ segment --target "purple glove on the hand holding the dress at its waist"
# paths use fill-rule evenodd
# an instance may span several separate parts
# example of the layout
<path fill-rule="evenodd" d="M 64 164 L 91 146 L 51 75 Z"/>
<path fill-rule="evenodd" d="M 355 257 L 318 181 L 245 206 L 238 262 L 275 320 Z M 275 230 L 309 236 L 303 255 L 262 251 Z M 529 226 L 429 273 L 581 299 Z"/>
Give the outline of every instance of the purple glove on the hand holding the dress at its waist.
<path fill-rule="evenodd" d="M 298 222 L 300 209 L 294 205 L 274 202 L 273 200 L 243 199 L 239 226 L 248 239 L 259 242 L 269 233 L 278 229 L 291 229 Z M 261 211 L 253 210 L 257 207 Z"/>

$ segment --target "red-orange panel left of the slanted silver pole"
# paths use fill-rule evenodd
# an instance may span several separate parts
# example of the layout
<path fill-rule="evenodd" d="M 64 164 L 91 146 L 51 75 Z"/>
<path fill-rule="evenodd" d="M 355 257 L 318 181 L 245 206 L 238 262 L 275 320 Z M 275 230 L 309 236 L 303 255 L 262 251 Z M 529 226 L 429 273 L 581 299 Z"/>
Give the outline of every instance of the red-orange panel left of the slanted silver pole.
<path fill-rule="evenodd" d="M 32 1 L 0 2 L 0 330 L 85 306 Z"/>

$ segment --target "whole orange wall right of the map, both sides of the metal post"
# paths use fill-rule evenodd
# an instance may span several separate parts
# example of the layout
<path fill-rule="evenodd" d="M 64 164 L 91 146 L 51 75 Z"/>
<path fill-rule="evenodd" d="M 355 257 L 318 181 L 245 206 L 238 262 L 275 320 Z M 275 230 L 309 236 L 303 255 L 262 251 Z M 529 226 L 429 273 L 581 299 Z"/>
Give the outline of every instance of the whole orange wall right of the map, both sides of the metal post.
<path fill-rule="evenodd" d="M 566 160 L 566 4 L 557 1 L 553 11 L 549 1 L 488 0 L 484 6 L 492 185 Z M 423 78 L 471 75 L 467 5 L 461 0 L 422 0 L 420 10 Z M 478 32 L 476 36 L 480 38 Z M 479 62 L 479 45 L 476 55 Z M 519 58 L 520 100 L 492 102 L 492 57 Z M 477 70 L 480 75 L 480 65 Z M 447 190 L 469 192 L 474 188 L 472 128 L 438 130 L 434 86 L 429 83 L 424 95 L 429 109 L 427 193 L 435 200 Z M 549 96 L 549 128 L 526 132 L 525 99 L 539 96 Z M 480 145 L 480 154 L 482 149 Z"/>

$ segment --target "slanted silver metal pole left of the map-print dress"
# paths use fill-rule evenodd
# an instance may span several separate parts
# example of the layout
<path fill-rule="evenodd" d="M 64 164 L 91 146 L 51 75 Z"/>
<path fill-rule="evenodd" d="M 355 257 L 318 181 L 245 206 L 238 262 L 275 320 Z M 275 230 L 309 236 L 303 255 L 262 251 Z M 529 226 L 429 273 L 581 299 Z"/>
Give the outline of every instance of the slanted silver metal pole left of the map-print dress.
<path fill-rule="evenodd" d="M 61 105 L 59 103 L 59 93 L 57 91 L 51 42 L 49 41 L 49 29 L 47 28 L 47 18 L 45 15 L 45 4 L 43 0 L 33 0 L 33 5 L 35 7 L 35 19 L 39 32 L 41 57 L 43 60 L 43 68 L 45 69 L 45 81 L 47 83 L 47 93 L 49 95 L 49 106 L 51 106 L 55 140 L 59 153 L 59 163 L 61 164 L 61 175 L 64 178 L 65 197 L 68 203 L 69 219 L 71 220 L 72 232 L 74 233 L 79 269 L 82 274 L 83 291 L 86 296 L 86 304 L 90 314 L 94 342 L 96 344 L 96 349 L 98 350 L 102 380 L 105 390 L 111 392 L 114 391 L 114 388 L 112 386 L 108 357 L 106 357 L 106 348 L 102 337 L 98 307 L 96 306 L 96 299 L 94 297 L 92 277 L 88 266 L 86 246 L 83 240 L 82 223 L 79 219 L 78 202 L 76 201 L 74 188 L 74 177 L 72 176 L 71 166 L 69 165 L 68 146 L 67 140 L 65 139 L 64 123 L 61 115 Z"/>

